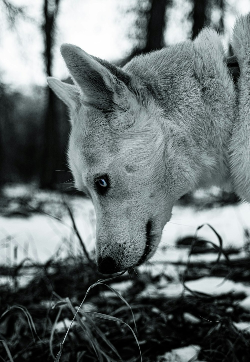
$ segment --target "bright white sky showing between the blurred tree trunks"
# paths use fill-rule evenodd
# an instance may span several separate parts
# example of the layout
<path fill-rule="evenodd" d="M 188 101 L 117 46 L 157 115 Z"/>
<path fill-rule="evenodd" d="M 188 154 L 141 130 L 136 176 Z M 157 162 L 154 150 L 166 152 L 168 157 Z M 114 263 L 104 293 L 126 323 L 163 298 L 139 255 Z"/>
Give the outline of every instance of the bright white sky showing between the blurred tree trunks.
<path fill-rule="evenodd" d="M 17 23 L 17 31 L 10 31 L 0 5 L 0 76 L 16 88 L 21 85 L 46 84 L 42 60 L 43 0 L 12 0 L 25 5 L 36 23 Z M 136 0 L 61 0 L 57 18 L 53 75 L 65 78 L 68 73 L 60 55 L 61 43 L 73 43 L 90 54 L 107 60 L 122 59 L 133 47 L 128 33 L 133 29 L 134 14 L 126 12 Z M 191 5 L 188 0 L 174 0 L 168 11 L 165 42 L 180 42 L 189 37 L 191 24 L 186 19 Z M 250 11 L 250 0 L 228 0 L 225 14 L 226 40 L 239 13 Z M 214 19 L 218 13 L 213 14 Z"/>

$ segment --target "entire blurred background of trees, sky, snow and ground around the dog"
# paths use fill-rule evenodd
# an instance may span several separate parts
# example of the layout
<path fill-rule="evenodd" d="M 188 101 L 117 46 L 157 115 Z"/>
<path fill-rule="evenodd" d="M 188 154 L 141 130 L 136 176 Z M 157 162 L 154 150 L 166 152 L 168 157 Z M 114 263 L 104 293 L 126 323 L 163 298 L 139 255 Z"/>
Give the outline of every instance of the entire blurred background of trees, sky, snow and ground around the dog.
<path fill-rule="evenodd" d="M 70 82 L 61 43 L 123 65 L 211 25 L 227 49 L 247 12 L 250 0 L 0 0 L 1 360 L 55 361 L 72 309 L 103 277 L 92 262 L 94 207 L 73 195 L 67 167 L 68 110 L 46 82 Z M 200 361 L 250 361 L 250 207 L 235 201 L 219 190 L 185 195 L 151 260 L 111 281 L 133 307 L 144 362 L 197 361 L 190 347 Z M 82 310 L 133 327 L 105 285 L 87 298 Z M 117 361 L 112 344 L 123 361 L 140 360 L 124 324 L 88 314 L 76 321 L 61 362 Z"/>

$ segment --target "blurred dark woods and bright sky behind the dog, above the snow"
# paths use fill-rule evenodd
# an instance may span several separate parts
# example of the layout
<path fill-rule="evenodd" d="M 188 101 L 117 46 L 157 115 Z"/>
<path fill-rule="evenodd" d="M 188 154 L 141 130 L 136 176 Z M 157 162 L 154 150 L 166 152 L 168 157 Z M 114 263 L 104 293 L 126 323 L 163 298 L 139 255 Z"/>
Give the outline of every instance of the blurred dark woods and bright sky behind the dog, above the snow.
<path fill-rule="evenodd" d="M 123 65 L 215 26 L 225 47 L 249 0 L 0 0 L 0 185 L 69 189 L 68 112 L 46 76 L 70 81 L 61 43 Z"/>

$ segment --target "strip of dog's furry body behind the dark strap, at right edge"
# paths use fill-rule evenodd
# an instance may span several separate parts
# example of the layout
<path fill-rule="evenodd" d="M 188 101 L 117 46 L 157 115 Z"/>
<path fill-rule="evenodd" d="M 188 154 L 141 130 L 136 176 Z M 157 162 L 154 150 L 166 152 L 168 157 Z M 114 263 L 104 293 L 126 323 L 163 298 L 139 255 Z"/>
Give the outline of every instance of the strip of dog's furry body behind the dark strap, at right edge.
<path fill-rule="evenodd" d="M 232 48 L 240 67 L 237 117 L 230 139 L 230 174 L 234 191 L 250 202 L 250 14 L 234 27 Z"/>

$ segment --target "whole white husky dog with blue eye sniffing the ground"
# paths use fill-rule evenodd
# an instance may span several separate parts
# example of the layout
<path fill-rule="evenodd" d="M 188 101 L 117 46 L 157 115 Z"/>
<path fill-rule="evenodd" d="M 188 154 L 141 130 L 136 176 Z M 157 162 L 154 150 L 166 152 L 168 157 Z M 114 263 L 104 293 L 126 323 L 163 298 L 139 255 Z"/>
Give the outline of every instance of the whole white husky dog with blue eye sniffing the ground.
<path fill-rule="evenodd" d="M 102 273 L 148 260 L 185 193 L 217 185 L 250 201 L 250 15 L 231 44 L 237 84 L 210 28 L 122 68 L 61 46 L 74 85 L 48 84 L 70 111 L 69 164 L 94 204 Z"/>

